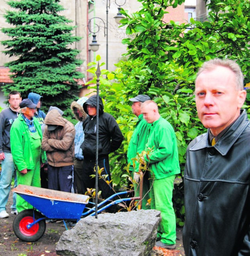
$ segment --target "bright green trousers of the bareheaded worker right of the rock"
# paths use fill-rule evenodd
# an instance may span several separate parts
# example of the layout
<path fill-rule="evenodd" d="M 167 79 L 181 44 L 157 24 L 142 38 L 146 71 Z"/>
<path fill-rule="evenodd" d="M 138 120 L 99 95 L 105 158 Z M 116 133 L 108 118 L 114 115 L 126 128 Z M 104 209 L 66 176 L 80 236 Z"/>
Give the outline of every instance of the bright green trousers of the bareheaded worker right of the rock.
<path fill-rule="evenodd" d="M 161 237 L 161 242 L 165 244 L 176 243 L 176 220 L 172 203 L 174 180 L 175 175 L 150 180 L 150 183 L 153 182 L 153 188 L 150 190 L 150 207 L 161 211 L 157 237 Z"/>

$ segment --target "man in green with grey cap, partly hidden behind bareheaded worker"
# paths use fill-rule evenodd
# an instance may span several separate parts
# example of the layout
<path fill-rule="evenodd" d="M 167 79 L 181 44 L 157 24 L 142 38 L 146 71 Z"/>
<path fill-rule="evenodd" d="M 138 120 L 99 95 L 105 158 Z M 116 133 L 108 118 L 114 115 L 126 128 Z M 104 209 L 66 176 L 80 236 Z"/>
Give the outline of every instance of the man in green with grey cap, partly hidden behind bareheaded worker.
<path fill-rule="evenodd" d="M 146 138 L 148 136 L 148 123 L 145 119 L 143 119 L 143 115 L 141 114 L 141 104 L 146 100 L 150 100 L 148 95 L 139 94 L 134 98 L 130 98 L 130 101 L 133 102 L 132 104 L 132 111 L 138 117 L 138 121 L 136 123 L 136 128 L 131 136 L 129 141 L 129 148 L 127 152 L 127 160 L 129 165 L 130 175 L 133 179 L 134 191 L 135 196 L 139 196 L 139 186 L 140 175 L 139 175 L 139 165 L 134 163 L 133 158 L 137 157 L 137 153 L 141 154 L 141 152 L 145 149 Z M 148 199 L 149 199 L 149 180 L 148 180 L 148 172 L 144 173 L 143 179 L 143 197 L 141 202 L 141 209 L 149 209 Z M 139 204 L 137 204 L 138 206 Z"/>

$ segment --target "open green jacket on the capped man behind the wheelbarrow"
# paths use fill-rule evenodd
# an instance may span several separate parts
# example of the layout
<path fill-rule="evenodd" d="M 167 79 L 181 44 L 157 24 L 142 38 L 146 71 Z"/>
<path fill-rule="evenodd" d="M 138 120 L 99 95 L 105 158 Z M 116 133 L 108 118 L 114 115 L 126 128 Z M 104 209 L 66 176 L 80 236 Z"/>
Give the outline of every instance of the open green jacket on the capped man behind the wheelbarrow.
<path fill-rule="evenodd" d="M 43 138 L 41 126 L 37 119 L 34 117 L 34 125 L 38 134 Z M 25 123 L 21 115 L 16 118 L 11 126 L 10 138 L 11 138 L 11 154 L 13 156 L 14 165 L 18 171 L 34 168 L 34 162 L 32 158 L 29 127 Z M 41 149 L 41 161 L 46 162 L 46 152 Z"/>

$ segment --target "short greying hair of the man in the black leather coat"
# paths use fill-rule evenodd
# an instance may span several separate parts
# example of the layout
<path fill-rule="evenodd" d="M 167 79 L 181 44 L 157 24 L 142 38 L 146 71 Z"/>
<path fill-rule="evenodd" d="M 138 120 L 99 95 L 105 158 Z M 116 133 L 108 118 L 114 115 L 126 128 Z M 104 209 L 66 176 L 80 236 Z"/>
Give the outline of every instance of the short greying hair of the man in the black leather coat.
<path fill-rule="evenodd" d="M 199 68 L 198 73 L 196 75 L 196 78 L 200 73 L 206 70 L 213 70 L 217 66 L 222 66 L 225 68 L 229 68 L 235 75 L 236 79 L 236 90 L 244 90 L 244 75 L 241 71 L 240 66 L 235 62 L 232 61 L 231 59 L 211 59 L 210 61 L 206 61 L 202 64 L 202 66 Z"/>

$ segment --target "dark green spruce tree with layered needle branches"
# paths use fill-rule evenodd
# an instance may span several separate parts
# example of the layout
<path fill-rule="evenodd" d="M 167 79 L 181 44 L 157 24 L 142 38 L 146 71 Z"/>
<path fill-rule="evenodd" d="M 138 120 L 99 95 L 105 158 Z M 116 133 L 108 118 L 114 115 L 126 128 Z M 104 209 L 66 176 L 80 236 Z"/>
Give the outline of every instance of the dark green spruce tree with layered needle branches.
<path fill-rule="evenodd" d="M 5 19 L 11 27 L 2 28 L 9 39 L 2 41 L 5 54 L 18 59 L 5 63 L 13 73 L 13 84 L 3 86 L 5 95 L 20 91 L 26 98 L 32 91 L 43 95 L 46 109 L 57 106 L 64 115 L 71 113 L 69 106 L 76 99 L 83 77 L 77 71 L 82 61 L 76 58 L 78 50 L 70 48 L 80 40 L 73 36 L 71 21 L 58 13 L 63 10 L 59 0 L 10 0 L 12 8 Z"/>

